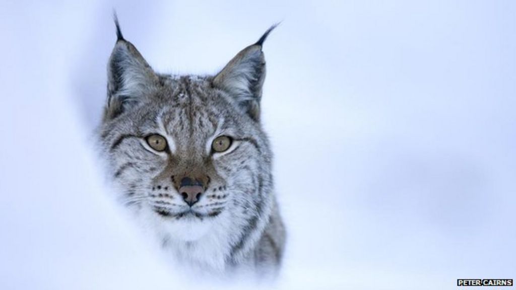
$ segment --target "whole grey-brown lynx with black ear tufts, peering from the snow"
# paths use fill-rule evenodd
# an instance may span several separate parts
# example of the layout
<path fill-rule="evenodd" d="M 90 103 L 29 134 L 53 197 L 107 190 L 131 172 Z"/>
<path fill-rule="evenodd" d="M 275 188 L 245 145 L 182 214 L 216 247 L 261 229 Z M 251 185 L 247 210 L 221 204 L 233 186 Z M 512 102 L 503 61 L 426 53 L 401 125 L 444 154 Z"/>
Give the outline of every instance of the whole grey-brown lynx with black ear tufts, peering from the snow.
<path fill-rule="evenodd" d="M 168 75 L 115 24 L 99 138 L 117 199 L 179 265 L 276 273 L 285 229 L 260 123 L 275 26 L 215 75 Z"/>

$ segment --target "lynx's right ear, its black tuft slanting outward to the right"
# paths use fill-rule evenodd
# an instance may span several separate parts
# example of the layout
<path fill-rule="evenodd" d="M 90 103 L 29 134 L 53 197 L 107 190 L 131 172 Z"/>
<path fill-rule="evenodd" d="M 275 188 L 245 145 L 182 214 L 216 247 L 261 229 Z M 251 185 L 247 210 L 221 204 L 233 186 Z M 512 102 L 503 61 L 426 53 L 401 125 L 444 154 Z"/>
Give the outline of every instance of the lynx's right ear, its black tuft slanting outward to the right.
<path fill-rule="evenodd" d="M 265 79 L 262 45 L 273 25 L 256 43 L 240 51 L 213 79 L 214 86 L 227 91 L 251 118 L 260 119 L 260 100 Z"/>

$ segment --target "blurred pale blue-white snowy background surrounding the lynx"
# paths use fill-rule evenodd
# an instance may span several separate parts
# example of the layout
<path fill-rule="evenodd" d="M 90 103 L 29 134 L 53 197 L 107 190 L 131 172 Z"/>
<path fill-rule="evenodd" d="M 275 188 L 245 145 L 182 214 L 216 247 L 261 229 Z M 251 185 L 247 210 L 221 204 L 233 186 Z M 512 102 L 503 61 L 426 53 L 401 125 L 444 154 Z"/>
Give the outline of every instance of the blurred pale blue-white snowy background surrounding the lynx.
<path fill-rule="evenodd" d="M 214 73 L 283 21 L 263 98 L 288 227 L 278 288 L 516 278 L 514 2 L 3 1 L 1 289 L 195 280 L 148 247 L 95 168 L 113 7 L 171 73 Z"/>

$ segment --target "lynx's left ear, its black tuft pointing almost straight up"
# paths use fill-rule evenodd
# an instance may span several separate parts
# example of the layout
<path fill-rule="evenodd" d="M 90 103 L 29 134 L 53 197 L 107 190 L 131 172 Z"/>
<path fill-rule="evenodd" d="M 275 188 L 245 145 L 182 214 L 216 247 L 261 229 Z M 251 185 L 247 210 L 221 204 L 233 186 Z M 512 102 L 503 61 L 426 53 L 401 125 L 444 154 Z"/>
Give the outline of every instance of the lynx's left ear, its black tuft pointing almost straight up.
<path fill-rule="evenodd" d="M 114 17 L 117 43 L 107 66 L 108 98 L 104 118 L 108 119 L 141 101 L 158 83 L 158 77 L 147 61 L 131 42 L 123 38 L 118 19 L 116 15 Z"/>

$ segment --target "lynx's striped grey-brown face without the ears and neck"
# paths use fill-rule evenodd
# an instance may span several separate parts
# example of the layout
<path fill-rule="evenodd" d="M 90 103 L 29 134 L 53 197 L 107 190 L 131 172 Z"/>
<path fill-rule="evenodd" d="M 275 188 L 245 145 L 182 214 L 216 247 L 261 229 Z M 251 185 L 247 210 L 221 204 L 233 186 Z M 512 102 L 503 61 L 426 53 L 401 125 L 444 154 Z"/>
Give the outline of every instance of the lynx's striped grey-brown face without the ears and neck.
<path fill-rule="evenodd" d="M 160 82 L 147 100 L 103 126 L 125 202 L 172 224 L 206 222 L 228 208 L 259 210 L 271 182 L 259 123 L 209 78 Z"/>

